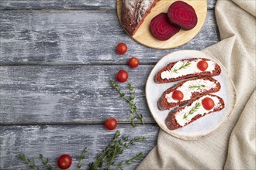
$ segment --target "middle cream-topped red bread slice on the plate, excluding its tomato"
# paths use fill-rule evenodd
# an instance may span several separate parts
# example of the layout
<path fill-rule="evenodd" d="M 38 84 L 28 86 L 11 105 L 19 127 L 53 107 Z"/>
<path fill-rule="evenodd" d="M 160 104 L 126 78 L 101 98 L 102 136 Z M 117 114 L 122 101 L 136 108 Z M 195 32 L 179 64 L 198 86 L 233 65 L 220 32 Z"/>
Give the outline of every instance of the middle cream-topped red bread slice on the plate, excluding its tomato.
<path fill-rule="evenodd" d="M 158 100 L 157 106 L 159 110 L 168 110 L 171 107 L 186 104 L 189 100 L 195 99 L 199 96 L 216 93 L 220 90 L 220 83 L 210 76 L 195 77 L 188 80 L 183 80 L 175 84 L 175 86 L 168 88 L 162 94 Z M 183 93 L 182 100 L 175 100 L 172 98 L 172 94 L 175 90 L 179 90 Z"/>

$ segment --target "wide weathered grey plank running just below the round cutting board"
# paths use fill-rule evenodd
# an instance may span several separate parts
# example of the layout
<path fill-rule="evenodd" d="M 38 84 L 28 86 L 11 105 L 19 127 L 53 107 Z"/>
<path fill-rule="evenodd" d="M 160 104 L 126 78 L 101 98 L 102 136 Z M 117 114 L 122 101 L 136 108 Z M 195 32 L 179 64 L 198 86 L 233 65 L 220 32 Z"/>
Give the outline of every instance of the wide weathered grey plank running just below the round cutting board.
<path fill-rule="evenodd" d="M 176 49 L 149 49 L 123 31 L 116 11 L 0 12 L 0 65 L 13 64 L 124 64 L 137 56 L 154 64 L 178 49 L 204 49 L 220 40 L 213 10 L 201 32 Z M 126 42 L 125 55 L 115 53 Z"/>

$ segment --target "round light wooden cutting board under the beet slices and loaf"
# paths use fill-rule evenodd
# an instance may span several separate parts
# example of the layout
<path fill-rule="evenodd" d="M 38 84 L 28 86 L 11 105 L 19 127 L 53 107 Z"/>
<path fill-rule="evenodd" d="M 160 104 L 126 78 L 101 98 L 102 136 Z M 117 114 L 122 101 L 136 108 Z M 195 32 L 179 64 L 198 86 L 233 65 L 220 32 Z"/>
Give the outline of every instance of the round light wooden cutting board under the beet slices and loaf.
<path fill-rule="evenodd" d="M 151 19 L 153 19 L 154 16 L 158 15 L 161 12 L 167 12 L 171 3 L 175 1 L 176 0 L 160 0 L 159 2 L 157 2 L 157 4 L 151 9 L 151 12 L 144 19 L 144 22 L 140 25 L 140 28 L 137 29 L 135 35 L 131 38 L 144 46 L 154 49 L 175 48 L 177 46 L 182 46 L 186 42 L 189 42 L 191 39 L 193 39 L 200 31 L 203 23 L 205 22 L 207 13 L 207 0 L 183 0 L 183 2 L 187 2 L 189 5 L 192 5 L 192 7 L 195 8 L 195 12 L 198 17 L 198 23 L 194 29 L 191 29 L 189 31 L 181 29 L 180 32 L 175 34 L 175 36 L 172 36 L 171 39 L 168 39 L 167 41 L 157 40 L 150 33 L 149 26 Z M 122 0 L 117 0 L 116 11 L 119 21 L 121 21 L 121 9 Z"/>

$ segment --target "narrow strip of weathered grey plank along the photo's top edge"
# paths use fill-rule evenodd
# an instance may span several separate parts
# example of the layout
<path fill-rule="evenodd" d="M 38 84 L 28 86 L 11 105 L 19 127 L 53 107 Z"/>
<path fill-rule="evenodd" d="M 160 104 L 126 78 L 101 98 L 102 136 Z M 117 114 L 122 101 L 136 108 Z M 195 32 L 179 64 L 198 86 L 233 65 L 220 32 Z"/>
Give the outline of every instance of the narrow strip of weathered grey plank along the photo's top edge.
<path fill-rule="evenodd" d="M 213 9 L 216 4 L 216 0 L 208 0 L 208 8 Z M 0 9 L 3 10 L 40 10 L 40 9 L 116 9 L 116 0 L 1 0 Z"/>

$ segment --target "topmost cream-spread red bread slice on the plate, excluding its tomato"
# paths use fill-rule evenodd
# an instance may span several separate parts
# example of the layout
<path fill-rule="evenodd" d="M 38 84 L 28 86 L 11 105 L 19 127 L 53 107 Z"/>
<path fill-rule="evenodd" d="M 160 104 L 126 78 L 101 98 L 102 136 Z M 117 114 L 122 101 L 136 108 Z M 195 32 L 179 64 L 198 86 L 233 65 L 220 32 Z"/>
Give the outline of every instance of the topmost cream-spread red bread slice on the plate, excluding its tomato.
<path fill-rule="evenodd" d="M 208 63 L 207 70 L 202 71 L 197 68 L 200 61 Z M 217 76 L 220 75 L 220 66 L 211 59 L 205 58 L 190 58 L 169 63 L 164 66 L 154 77 L 156 83 L 168 83 L 178 81 L 195 76 Z"/>

